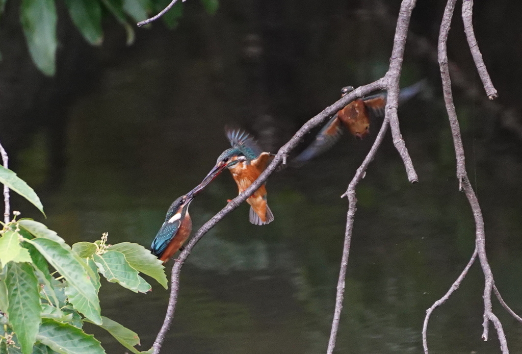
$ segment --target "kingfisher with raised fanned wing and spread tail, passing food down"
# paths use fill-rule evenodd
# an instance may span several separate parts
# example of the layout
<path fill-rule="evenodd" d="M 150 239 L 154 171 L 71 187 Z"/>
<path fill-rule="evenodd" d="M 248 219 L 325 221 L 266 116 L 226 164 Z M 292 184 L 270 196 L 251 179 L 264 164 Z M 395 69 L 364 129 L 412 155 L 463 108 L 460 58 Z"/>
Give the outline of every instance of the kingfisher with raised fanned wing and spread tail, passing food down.
<path fill-rule="evenodd" d="M 227 137 L 232 147 L 223 151 L 216 166 L 212 168 L 201 184 L 210 183 L 221 171 L 228 168 L 241 194 L 266 169 L 274 155 L 263 152 L 254 138 L 240 129 L 227 129 Z M 263 183 L 254 194 L 246 199 L 246 202 L 250 204 L 248 219 L 254 225 L 266 225 L 274 220 L 274 214 L 267 204 L 266 194 L 265 183 Z"/>

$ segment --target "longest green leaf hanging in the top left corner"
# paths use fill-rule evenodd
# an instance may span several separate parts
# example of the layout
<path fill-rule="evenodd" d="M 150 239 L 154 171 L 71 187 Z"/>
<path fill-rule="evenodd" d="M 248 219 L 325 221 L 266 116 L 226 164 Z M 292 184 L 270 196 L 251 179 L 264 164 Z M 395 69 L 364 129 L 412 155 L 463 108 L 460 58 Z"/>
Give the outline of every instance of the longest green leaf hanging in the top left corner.
<path fill-rule="evenodd" d="M 20 22 L 34 64 L 45 75 L 53 76 L 57 44 L 54 0 L 22 0 Z"/>

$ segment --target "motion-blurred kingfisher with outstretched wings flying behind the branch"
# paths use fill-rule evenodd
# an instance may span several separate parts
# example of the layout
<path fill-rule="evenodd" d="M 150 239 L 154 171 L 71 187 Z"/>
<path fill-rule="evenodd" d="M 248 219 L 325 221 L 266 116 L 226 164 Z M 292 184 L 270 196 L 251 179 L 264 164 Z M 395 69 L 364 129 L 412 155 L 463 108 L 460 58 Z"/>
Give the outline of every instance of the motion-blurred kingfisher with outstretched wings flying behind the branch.
<path fill-rule="evenodd" d="M 426 85 L 425 80 L 408 86 L 399 92 L 399 103 L 407 101 L 417 95 Z M 353 91 L 353 86 L 343 87 L 341 97 Z M 315 137 L 313 143 L 304 149 L 292 162 L 303 164 L 317 155 L 322 154 L 337 142 L 342 134 L 341 123 L 348 131 L 358 139 L 370 134 L 370 116 L 384 117 L 387 92 L 355 99 L 348 103 L 345 108 L 337 112 Z"/>

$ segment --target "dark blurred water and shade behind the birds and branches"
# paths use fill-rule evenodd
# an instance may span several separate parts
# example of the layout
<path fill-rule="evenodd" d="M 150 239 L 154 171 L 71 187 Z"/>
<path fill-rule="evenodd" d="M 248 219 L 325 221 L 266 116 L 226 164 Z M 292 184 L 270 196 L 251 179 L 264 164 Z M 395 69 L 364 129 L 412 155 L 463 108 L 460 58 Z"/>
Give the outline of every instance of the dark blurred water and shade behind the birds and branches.
<path fill-rule="evenodd" d="M 399 108 L 419 183 L 408 183 L 392 139 L 385 139 L 359 184 L 337 352 L 421 352 L 425 310 L 468 262 L 474 223 L 458 191 L 444 109 L 436 40 L 444 4 L 413 11 L 401 86 L 428 88 Z M 183 5 L 174 30 L 136 28 L 133 45 L 114 19 L 104 42 L 85 42 L 60 3 L 56 75 L 28 54 L 18 5 L 0 22 L 0 140 L 10 168 L 42 199 L 48 219 L 13 196 L 12 209 L 43 221 L 69 244 L 100 239 L 149 246 L 170 203 L 206 175 L 228 148 L 226 124 L 241 126 L 277 152 L 312 116 L 387 70 L 400 2 L 220 0 L 211 16 Z M 474 6 L 475 31 L 499 90 L 487 100 L 457 5 L 448 42 L 454 98 L 468 173 L 484 214 L 496 286 L 522 313 L 522 115 L 519 85 L 522 3 Z M 205 235 L 181 274 L 181 292 L 164 352 L 321 353 L 333 316 L 347 200 L 355 170 L 380 126 L 268 181 L 275 221 L 248 222 L 243 205 Z M 310 135 L 308 140 L 313 138 Z M 304 143 L 306 143 L 305 141 Z M 304 148 L 301 147 L 301 149 Z M 191 205 L 194 230 L 236 196 L 223 173 Z M 170 268 L 168 274 L 170 278 Z M 475 264 L 460 289 L 432 315 L 431 353 L 497 353 L 483 342 L 483 275 Z M 103 283 L 102 314 L 133 329 L 148 349 L 169 292 L 135 294 Z M 522 325 L 493 300 L 512 352 Z M 125 350 L 88 328 L 109 353 Z"/>

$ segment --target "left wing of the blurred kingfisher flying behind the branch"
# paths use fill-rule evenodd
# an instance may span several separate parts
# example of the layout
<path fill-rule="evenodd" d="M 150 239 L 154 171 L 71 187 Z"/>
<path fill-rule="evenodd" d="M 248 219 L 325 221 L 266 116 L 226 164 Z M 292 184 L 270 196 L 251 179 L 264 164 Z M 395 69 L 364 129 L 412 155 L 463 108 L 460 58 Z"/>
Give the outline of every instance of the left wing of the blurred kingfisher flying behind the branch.
<path fill-rule="evenodd" d="M 334 115 L 331 119 L 326 123 L 326 125 L 321 129 L 321 131 L 315 137 L 315 140 L 310 144 L 309 147 L 304 149 L 301 154 L 299 154 L 295 159 L 293 159 L 293 163 L 297 166 L 304 164 L 305 162 L 313 159 L 314 157 L 323 154 L 326 150 L 334 146 L 339 140 L 339 137 L 342 134 L 341 121 L 339 117 Z"/>

